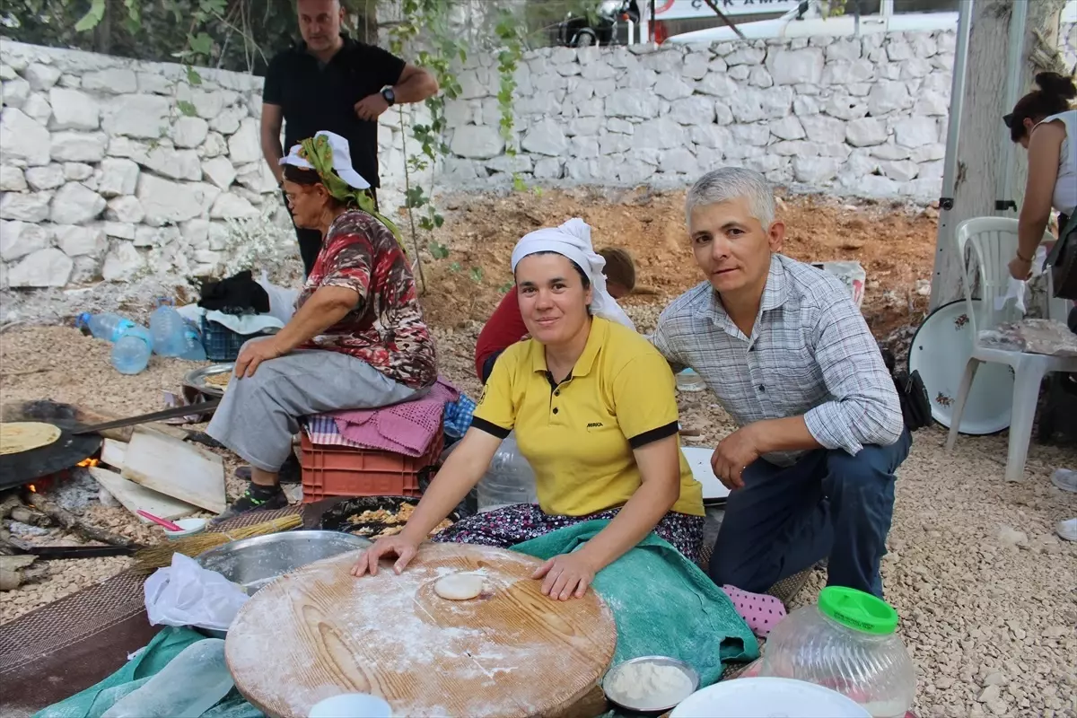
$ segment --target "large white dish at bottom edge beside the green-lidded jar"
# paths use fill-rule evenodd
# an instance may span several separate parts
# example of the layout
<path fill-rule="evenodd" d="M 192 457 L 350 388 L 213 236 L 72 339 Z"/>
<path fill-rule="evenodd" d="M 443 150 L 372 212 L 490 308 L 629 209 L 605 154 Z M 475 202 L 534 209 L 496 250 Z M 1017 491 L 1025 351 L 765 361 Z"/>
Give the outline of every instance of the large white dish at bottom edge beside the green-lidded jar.
<path fill-rule="evenodd" d="M 736 678 L 696 691 L 670 718 L 871 718 L 841 693 L 792 678 Z"/>

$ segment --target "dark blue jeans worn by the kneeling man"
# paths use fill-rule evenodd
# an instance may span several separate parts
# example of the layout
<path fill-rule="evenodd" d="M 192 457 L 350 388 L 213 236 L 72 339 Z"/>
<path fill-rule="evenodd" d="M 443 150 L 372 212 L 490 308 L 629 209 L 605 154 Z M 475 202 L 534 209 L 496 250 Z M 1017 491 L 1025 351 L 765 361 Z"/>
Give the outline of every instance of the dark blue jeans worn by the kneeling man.
<path fill-rule="evenodd" d="M 894 471 L 911 446 L 905 430 L 896 444 L 866 446 L 855 456 L 816 449 L 793 466 L 756 460 L 744 469 L 744 488 L 729 494 L 711 578 L 761 593 L 829 558 L 828 586 L 882 597 Z"/>

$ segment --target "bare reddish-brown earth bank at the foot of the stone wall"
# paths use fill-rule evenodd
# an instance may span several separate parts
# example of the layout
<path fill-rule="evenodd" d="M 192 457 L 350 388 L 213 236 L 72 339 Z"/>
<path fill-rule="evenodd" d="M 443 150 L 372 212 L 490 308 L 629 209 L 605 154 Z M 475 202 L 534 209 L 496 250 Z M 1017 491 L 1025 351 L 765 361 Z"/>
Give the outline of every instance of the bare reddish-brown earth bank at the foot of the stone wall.
<path fill-rule="evenodd" d="M 688 248 L 684 192 L 549 191 L 541 195 L 467 195 L 443 200 L 445 225 L 423 252 L 428 320 L 442 327 L 484 322 L 512 286 L 516 241 L 573 216 L 592 227 L 596 249 L 632 252 L 640 291 L 629 306 L 665 306 L 701 280 Z M 779 203 L 785 253 L 806 262 L 856 261 L 867 271 L 864 314 L 886 336 L 922 311 L 917 281 L 931 277 L 936 222 L 905 208 L 854 207 L 826 197 L 789 196 Z"/>

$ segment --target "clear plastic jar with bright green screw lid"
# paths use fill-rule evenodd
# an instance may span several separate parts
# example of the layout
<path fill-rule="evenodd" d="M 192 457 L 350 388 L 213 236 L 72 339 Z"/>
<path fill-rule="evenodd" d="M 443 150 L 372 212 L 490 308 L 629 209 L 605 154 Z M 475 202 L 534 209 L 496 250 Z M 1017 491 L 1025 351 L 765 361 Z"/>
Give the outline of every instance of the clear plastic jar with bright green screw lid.
<path fill-rule="evenodd" d="M 759 675 L 825 686 L 873 718 L 901 718 L 917 674 L 896 629 L 897 611 L 885 601 L 828 586 L 819 605 L 798 608 L 770 632 Z"/>

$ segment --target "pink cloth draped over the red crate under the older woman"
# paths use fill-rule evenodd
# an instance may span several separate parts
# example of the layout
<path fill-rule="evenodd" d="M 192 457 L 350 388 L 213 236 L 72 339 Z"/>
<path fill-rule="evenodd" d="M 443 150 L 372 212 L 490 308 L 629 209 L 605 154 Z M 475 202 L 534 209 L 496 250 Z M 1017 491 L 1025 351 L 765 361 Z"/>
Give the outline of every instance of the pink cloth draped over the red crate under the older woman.
<path fill-rule="evenodd" d="M 346 409 L 327 416 L 336 421 L 340 436 L 367 449 L 421 456 L 442 431 L 446 402 L 460 392 L 438 377 L 425 396 L 384 409 Z"/>

